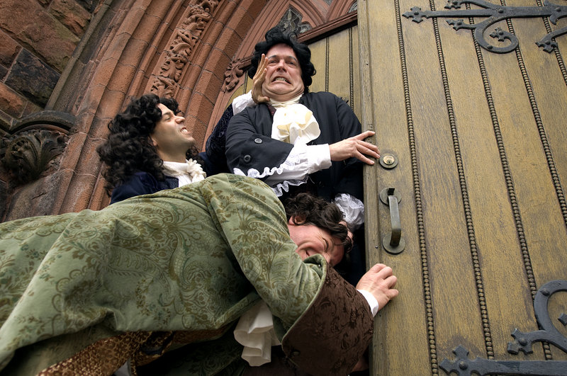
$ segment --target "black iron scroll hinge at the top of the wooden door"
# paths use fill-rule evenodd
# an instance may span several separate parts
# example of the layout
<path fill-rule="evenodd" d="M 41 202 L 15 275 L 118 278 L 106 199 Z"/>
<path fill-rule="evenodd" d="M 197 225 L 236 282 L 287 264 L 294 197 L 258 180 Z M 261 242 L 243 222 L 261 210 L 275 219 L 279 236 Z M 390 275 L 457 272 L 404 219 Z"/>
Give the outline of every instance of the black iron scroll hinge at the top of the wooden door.
<path fill-rule="evenodd" d="M 461 9 L 462 4 L 473 4 L 481 8 Z M 450 19 L 447 20 L 447 23 L 452 25 L 455 30 L 474 30 L 474 38 L 481 47 L 485 50 L 501 54 L 513 51 L 518 45 L 518 39 L 516 35 L 502 30 L 501 28 L 496 28 L 493 33 L 490 33 L 490 37 L 498 38 L 500 42 L 509 40 L 510 44 L 504 47 L 491 45 L 485 40 L 484 33 L 485 30 L 494 23 L 507 18 L 549 17 L 549 21 L 555 25 L 559 18 L 567 16 L 567 6 L 551 4 L 547 0 L 544 1 L 543 6 L 502 6 L 483 0 L 447 0 L 445 8 L 449 9 L 449 11 L 422 11 L 420 7 L 414 6 L 411 8 L 411 11 L 403 13 L 403 16 L 405 18 L 412 18 L 412 21 L 417 23 L 423 21 L 423 18 L 432 17 L 488 17 L 484 21 L 476 24 L 465 23 L 462 18 Z M 557 42 L 554 38 L 566 33 L 567 26 L 548 33 L 544 38 L 536 42 L 536 44 L 542 47 L 544 51 L 551 52 L 554 50 L 554 47 L 557 47 Z"/>

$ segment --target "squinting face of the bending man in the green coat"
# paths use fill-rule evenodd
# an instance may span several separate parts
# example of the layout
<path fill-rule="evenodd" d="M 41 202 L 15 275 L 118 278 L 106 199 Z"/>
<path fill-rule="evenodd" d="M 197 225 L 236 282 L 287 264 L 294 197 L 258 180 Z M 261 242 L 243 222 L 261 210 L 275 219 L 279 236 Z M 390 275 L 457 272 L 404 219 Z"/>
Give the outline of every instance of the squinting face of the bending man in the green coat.
<path fill-rule="evenodd" d="M 337 237 L 314 224 L 295 224 L 288 221 L 289 237 L 297 245 L 296 253 L 302 260 L 319 253 L 331 267 L 337 266 L 344 256 L 344 246 Z"/>

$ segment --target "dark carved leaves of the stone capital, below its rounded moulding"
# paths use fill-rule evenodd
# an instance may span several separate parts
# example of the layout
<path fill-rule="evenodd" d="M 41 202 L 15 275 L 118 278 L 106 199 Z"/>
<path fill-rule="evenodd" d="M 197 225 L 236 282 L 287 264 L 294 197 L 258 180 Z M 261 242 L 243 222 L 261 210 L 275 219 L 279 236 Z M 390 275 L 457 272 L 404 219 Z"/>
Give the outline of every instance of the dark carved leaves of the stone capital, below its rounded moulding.
<path fill-rule="evenodd" d="M 2 140 L 2 164 L 19 183 L 35 181 L 65 149 L 66 136 L 55 130 L 26 130 Z"/>

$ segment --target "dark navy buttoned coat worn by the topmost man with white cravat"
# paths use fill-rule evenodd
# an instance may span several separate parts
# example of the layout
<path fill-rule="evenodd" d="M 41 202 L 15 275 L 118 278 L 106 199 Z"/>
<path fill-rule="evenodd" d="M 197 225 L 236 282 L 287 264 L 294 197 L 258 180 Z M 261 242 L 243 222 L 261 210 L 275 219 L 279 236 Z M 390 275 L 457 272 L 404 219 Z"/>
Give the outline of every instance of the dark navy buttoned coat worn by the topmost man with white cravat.
<path fill-rule="evenodd" d="M 307 93 L 299 103 L 313 111 L 321 135 L 309 144 L 334 144 L 361 133 L 361 124 L 352 109 L 332 93 Z M 246 108 L 233 116 L 226 133 L 226 156 L 230 171 L 240 169 L 250 176 L 251 169 L 260 173 L 280 166 L 293 144 L 271 138 L 273 114 L 266 103 Z M 362 200 L 362 163 L 356 158 L 334 161 L 329 169 L 310 174 L 312 193 L 332 200 L 348 193 Z"/>

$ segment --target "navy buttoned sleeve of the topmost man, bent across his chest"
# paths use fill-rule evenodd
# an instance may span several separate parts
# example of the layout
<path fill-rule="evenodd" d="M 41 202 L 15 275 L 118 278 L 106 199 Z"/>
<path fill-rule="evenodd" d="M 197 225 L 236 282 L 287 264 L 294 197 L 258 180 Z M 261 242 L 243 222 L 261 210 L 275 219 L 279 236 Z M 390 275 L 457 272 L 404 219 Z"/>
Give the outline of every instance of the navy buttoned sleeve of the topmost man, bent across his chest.
<path fill-rule="evenodd" d="M 232 173 L 253 178 L 269 176 L 286 160 L 291 149 L 292 144 L 271 138 L 267 106 L 247 108 L 228 123 L 226 156 Z"/>

